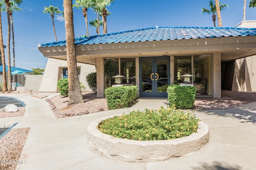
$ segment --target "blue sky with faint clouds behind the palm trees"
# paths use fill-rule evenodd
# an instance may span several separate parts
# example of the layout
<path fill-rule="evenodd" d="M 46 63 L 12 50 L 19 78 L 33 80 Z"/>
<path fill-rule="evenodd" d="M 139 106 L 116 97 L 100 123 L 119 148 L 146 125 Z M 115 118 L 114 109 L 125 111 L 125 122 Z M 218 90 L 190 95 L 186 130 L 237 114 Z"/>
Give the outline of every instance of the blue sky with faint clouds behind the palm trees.
<path fill-rule="evenodd" d="M 246 5 L 246 20 L 256 20 L 256 9 Z M 74 0 L 73 0 L 74 2 Z M 235 27 L 243 20 L 244 0 L 220 0 L 229 8 L 222 13 L 222 26 Z M 54 42 L 54 32 L 50 14 L 44 14 L 44 6 L 56 6 L 63 11 L 63 0 L 24 0 L 20 6 L 22 12 L 13 13 L 15 38 L 15 66 L 31 70 L 45 68 L 47 58 L 39 52 L 39 43 Z M 111 16 L 107 18 L 108 33 L 140 29 L 155 26 L 202 26 L 212 27 L 212 17 L 202 14 L 202 8 L 208 8 L 209 0 L 115 0 L 108 7 Z M 75 37 L 86 35 L 86 25 L 82 10 L 74 9 Z M 96 19 L 96 14 L 88 9 L 88 21 Z M 64 19 L 54 17 L 58 41 L 65 39 Z M 218 26 L 218 21 L 216 21 Z M 7 44 L 7 17 L 2 12 L 2 30 L 4 45 Z M 102 34 L 100 28 L 100 34 Z M 89 34 L 96 35 L 96 29 L 89 26 Z M 11 38 L 12 39 L 12 38 Z M 11 47 L 12 51 L 12 41 Z M 7 49 L 5 49 L 7 57 Z M 12 53 L 11 53 L 12 58 Z M 11 59 L 12 61 L 12 59 Z M 6 58 L 7 63 L 7 58 Z M 13 63 L 11 62 L 11 66 Z"/>

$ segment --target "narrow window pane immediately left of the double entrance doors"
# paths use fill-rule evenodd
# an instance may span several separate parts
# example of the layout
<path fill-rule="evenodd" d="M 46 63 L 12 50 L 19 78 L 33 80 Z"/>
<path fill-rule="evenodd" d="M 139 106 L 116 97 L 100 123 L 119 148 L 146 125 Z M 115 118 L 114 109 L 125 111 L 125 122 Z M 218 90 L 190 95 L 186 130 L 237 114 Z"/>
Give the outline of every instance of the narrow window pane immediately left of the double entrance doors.
<path fill-rule="evenodd" d="M 122 78 L 122 84 L 136 84 L 135 58 L 120 59 L 120 65 L 120 75 L 125 76 Z"/>

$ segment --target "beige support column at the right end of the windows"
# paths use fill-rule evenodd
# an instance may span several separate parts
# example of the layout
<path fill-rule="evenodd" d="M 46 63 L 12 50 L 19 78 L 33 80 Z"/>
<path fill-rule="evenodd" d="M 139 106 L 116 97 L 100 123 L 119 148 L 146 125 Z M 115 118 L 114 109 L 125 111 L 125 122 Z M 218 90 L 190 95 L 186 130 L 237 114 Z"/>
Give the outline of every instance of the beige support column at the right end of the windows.
<path fill-rule="evenodd" d="M 213 53 L 213 98 L 221 98 L 221 54 Z"/>

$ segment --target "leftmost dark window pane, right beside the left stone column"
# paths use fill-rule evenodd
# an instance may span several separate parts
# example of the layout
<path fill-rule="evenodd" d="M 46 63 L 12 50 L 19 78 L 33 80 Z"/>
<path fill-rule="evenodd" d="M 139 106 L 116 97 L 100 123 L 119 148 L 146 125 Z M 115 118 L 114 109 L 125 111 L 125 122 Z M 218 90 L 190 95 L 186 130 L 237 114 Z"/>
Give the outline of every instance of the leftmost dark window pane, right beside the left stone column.
<path fill-rule="evenodd" d="M 115 78 L 119 74 L 118 58 L 116 59 L 104 59 L 104 76 L 105 76 L 105 88 L 111 87 L 115 84 Z"/>

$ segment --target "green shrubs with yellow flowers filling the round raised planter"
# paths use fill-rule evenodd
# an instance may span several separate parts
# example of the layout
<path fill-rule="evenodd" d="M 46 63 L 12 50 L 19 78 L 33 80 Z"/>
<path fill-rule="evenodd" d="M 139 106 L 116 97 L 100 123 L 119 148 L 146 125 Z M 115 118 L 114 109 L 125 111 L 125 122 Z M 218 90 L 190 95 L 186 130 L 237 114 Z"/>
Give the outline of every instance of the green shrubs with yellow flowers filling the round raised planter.
<path fill-rule="evenodd" d="M 161 107 L 114 116 L 99 123 L 97 129 L 107 135 L 140 141 L 170 140 L 186 137 L 197 131 L 194 113 Z"/>

